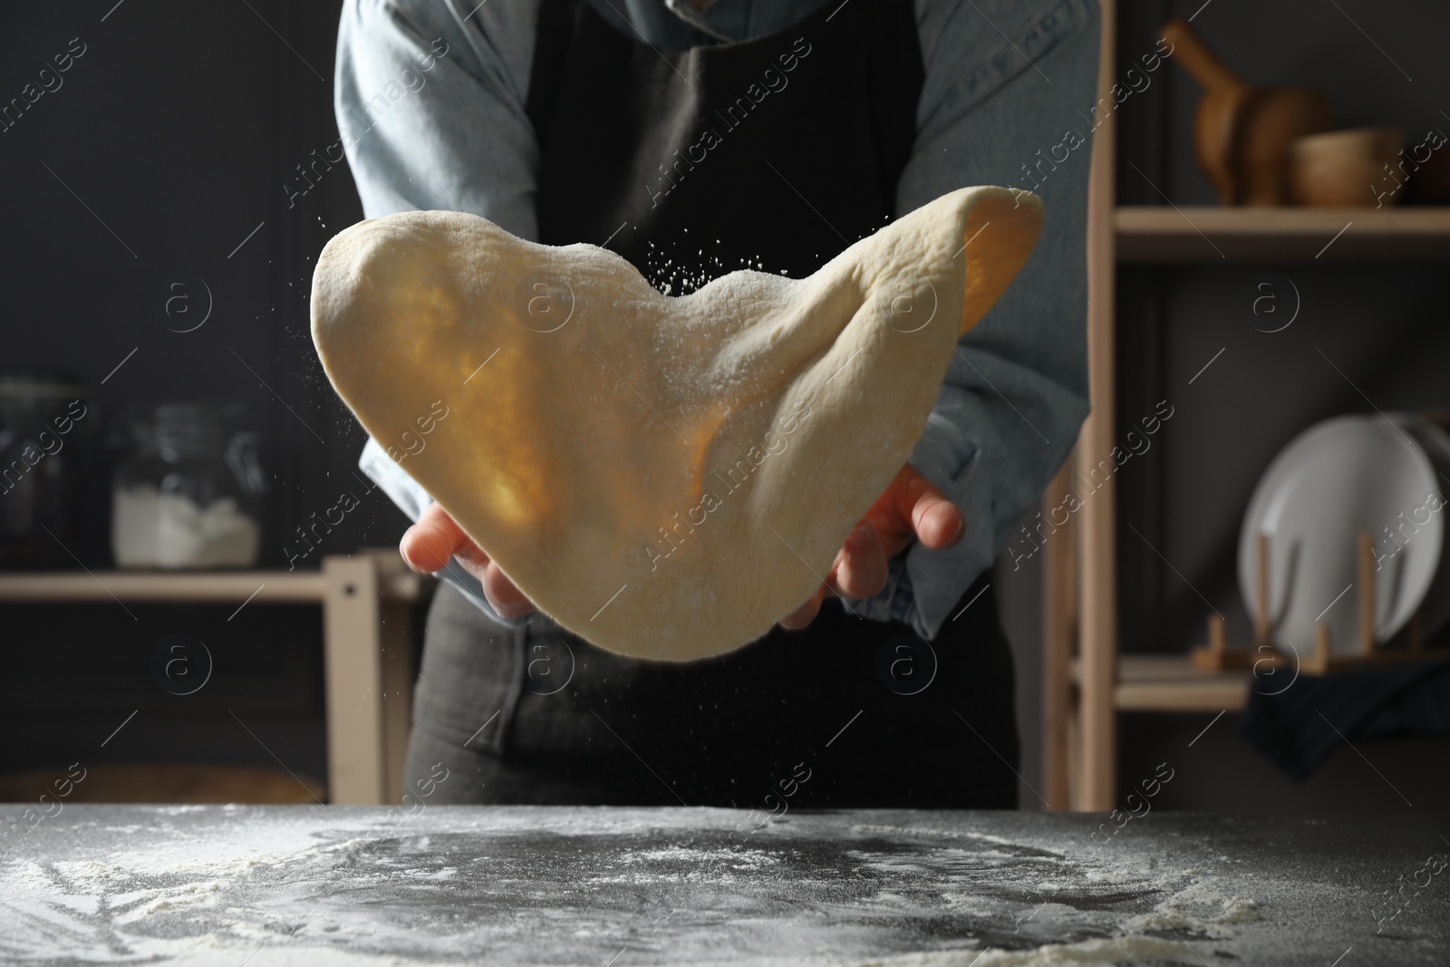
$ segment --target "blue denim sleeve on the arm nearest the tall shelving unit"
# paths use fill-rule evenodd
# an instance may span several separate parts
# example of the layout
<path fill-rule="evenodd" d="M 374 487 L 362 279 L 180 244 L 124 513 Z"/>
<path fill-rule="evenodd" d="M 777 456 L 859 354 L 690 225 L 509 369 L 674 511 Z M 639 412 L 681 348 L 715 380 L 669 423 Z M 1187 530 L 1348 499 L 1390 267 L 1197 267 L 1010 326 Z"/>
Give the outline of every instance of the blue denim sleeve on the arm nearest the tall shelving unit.
<path fill-rule="evenodd" d="M 1095 0 L 948 0 L 918 13 L 927 77 L 898 215 L 973 184 L 1030 190 L 1044 203 L 1032 257 L 958 342 L 911 457 L 961 509 L 966 534 L 944 551 L 911 545 L 892 558 L 882 593 L 851 602 L 935 638 L 1088 415 L 1088 115 L 1101 17 Z"/>

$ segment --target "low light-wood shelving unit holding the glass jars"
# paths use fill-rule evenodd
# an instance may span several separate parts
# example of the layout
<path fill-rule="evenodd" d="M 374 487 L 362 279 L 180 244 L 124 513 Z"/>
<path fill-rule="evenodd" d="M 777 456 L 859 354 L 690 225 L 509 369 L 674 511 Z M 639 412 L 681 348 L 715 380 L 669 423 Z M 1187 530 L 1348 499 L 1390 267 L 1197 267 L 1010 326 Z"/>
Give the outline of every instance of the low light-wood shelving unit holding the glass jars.
<path fill-rule="evenodd" d="M 0 574 L 0 602 L 320 605 L 329 800 L 373 805 L 403 787 L 413 694 L 407 610 L 431 584 L 396 551 L 368 549 L 326 557 L 319 571 Z"/>

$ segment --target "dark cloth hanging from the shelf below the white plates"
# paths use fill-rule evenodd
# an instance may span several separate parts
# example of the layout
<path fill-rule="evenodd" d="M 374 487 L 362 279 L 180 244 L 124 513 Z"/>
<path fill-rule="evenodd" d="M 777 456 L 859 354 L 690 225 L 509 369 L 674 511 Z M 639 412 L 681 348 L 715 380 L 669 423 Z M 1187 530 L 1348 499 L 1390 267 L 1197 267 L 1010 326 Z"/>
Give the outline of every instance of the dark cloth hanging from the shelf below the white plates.
<path fill-rule="evenodd" d="M 1250 690 L 1240 732 L 1295 779 L 1312 774 L 1346 739 L 1450 735 L 1450 663 L 1301 674 L 1279 694 Z"/>

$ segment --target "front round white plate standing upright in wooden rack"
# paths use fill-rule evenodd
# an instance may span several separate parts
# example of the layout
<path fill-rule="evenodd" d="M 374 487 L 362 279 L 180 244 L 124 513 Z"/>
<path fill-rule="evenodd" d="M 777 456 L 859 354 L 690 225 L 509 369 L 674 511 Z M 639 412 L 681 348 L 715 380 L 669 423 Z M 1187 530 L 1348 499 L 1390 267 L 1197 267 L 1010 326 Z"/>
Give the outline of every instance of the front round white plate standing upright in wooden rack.
<path fill-rule="evenodd" d="M 1314 649 L 1314 623 L 1334 652 L 1359 651 L 1359 534 L 1375 538 L 1375 634 L 1395 635 L 1420 607 L 1440 565 L 1444 515 L 1401 538 L 1391 532 L 1440 493 L 1420 444 L 1383 416 L 1337 416 L 1289 442 L 1259 480 L 1238 535 L 1238 589 L 1257 606 L 1257 541 L 1269 535 L 1269 613 L 1276 644 Z M 1425 513 L 1418 519 L 1424 520 Z M 1408 531 L 1406 525 L 1406 534 Z"/>

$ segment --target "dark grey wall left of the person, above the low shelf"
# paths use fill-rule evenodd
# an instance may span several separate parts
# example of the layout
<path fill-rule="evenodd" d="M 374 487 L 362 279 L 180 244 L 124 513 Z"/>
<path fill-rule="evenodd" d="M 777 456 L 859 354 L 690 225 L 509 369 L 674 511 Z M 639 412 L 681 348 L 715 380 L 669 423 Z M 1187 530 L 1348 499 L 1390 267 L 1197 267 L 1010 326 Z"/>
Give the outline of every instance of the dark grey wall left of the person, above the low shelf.
<path fill-rule="evenodd" d="M 296 164 L 338 136 L 341 4 L 113 6 L 4 14 L 4 99 L 72 38 L 86 45 L 64 86 L 0 133 L 0 177 L 12 186 L 4 364 L 62 368 L 97 386 L 136 349 L 99 387 L 103 410 L 246 402 L 276 477 L 262 564 L 281 565 L 286 535 L 335 503 L 342 481 L 334 478 L 361 447 L 322 380 L 306 302 L 312 260 L 361 207 L 347 165 L 294 206 L 283 188 Z M 170 332 L 175 322 L 155 310 L 157 289 L 175 273 L 210 289 L 212 315 L 196 332 Z M 392 515 L 371 499 L 322 551 L 389 541 Z M 94 563 L 107 563 L 103 551 Z"/>

